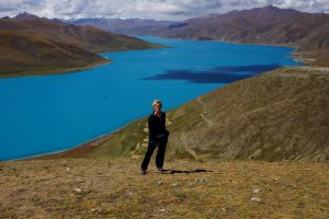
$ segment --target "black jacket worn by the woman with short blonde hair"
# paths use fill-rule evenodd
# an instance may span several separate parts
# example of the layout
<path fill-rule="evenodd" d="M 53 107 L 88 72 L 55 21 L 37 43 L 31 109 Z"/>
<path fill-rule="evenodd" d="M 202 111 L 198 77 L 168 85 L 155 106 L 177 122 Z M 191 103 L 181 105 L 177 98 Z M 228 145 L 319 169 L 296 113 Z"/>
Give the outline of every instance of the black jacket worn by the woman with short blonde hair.
<path fill-rule="evenodd" d="M 152 112 L 148 117 L 148 131 L 149 131 L 149 140 L 158 141 L 163 137 L 168 137 L 169 132 L 166 129 L 166 113 L 161 112 L 161 116 L 158 117 Z"/>

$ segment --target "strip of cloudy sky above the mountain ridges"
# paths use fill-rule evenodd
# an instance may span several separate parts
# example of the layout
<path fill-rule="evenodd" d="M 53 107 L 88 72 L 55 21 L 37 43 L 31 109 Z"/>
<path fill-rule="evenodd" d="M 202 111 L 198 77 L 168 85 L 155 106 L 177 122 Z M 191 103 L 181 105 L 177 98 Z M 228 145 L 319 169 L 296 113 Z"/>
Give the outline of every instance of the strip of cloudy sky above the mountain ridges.
<path fill-rule="evenodd" d="M 329 12 L 329 0 L 0 0 L 0 16 L 29 12 L 59 19 L 104 16 L 179 21 L 269 4 L 305 12 Z"/>

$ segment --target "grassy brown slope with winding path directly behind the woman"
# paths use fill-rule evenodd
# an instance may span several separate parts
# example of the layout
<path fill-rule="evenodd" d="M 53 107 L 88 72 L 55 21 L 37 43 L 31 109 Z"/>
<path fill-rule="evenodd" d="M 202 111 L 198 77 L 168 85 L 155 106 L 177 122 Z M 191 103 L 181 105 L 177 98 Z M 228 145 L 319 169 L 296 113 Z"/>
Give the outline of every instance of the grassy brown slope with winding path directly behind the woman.
<path fill-rule="evenodd" d="M 166 104 L 166 103 L 164 103 Z M 280 68 L 168 112 L 167 158 L 329 161 L 329 70 Z M 147 117 L 57 157 L 141 157 Z"/>

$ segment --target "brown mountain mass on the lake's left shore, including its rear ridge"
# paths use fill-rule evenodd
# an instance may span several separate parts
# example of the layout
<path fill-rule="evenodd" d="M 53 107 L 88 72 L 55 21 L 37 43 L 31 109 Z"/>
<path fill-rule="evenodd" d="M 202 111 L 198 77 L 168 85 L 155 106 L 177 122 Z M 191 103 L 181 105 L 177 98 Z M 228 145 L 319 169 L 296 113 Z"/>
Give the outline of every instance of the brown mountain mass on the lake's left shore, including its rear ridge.
<path fill-rule="evenodd" d="M 0 77 L 77 71 L 109 62 L 104 51 L 157 48 L 132 36 L 23 13 L 0 20 Z"/>

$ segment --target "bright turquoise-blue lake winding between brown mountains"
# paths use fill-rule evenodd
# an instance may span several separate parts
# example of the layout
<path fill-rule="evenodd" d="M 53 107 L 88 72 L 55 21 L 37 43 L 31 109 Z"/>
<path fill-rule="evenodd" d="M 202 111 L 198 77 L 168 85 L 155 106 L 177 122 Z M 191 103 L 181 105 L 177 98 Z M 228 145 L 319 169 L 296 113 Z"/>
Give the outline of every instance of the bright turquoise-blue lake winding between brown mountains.
<path fill-rule="evenodd" d="M 105 53 L 93 69 L 0 79 L 0 160 L 57 152 L 111 132 L 227 83 L 296 66 L 293 48 L 219 42 L 143 39 L 170 48 Z"/>

